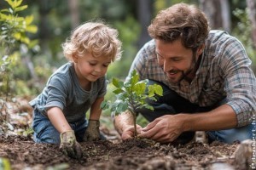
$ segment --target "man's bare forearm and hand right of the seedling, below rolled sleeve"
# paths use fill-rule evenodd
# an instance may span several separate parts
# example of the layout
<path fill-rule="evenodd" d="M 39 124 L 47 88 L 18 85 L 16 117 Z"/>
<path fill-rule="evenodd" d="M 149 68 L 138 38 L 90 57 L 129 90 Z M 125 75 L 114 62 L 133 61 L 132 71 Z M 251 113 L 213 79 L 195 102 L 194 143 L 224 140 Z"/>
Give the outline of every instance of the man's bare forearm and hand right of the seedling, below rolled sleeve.
<path fill-rule="evenodd" d="M 214 131 L 236 127 L 236 113 L 230 105 L 203 113 L 166 115 L 150 122 L 139 135 L 161 143 L 172 142 L 186 131 Z"/>

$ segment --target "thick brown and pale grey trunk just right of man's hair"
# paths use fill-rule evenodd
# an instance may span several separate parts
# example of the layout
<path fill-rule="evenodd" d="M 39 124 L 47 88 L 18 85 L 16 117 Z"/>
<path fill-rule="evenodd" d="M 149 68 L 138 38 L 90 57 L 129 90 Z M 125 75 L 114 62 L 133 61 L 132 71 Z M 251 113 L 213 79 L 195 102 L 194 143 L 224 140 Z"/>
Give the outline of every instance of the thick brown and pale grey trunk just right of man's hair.
<path fill-rule="evenodd" d="M 201 10 L 207 15 L 211 29 L 230 31 L 230 3 L 228 0 L 199 0 Z"/>

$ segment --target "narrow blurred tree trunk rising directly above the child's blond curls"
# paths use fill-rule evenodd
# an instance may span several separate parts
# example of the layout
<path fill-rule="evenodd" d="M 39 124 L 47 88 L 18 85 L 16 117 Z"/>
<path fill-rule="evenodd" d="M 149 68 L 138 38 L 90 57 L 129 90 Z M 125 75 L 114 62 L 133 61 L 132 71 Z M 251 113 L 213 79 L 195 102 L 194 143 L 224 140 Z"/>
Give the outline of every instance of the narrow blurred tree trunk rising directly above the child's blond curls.
<path fill-rule="evenodd" d="M 78 0 L 68 0 L 68 8 L 71 14 L 72 29 L 75 29 L 80 24 Z"/>

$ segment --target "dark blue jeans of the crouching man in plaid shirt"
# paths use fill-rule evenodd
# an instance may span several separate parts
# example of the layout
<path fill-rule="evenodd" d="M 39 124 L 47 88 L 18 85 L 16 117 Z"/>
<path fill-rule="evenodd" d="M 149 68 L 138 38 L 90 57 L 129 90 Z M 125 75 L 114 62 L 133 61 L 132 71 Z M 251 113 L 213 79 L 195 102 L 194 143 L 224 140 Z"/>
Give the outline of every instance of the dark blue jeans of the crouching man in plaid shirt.
<path fill-rule="evenodd" d="M 220 101 L 218 105 L 211 107 L 200 107 L 189 102 L 189 100 L 182 98 L 172 89 L 168 88 L 161 82 L 149 80 L 148 84 L 159 84 L 163 88 L 163 96 L 160 96 L 157 101 L 147 100 L 149 105 L 154 107 L 154 111 L 148 109 L 139 109 L 137 112 L 141 113 L 149 122 L 154 121 L 155 118 L 165 115 L 175 115 L 178 113 L 190 113 L 211 111 L 223 105 L 225 99 Z M 242 141 L 245 139 L 253 139 L 253 124 L 244 127 L 230 128 L 226 130 L 209 131 L 207 132 L 209 140 L 218 140 L 224 143 L 233 143 L 234 141 Z M 193 139 L 195 132 L 184 132 L 176 140 L 177 143 L 187 143 Z"/>

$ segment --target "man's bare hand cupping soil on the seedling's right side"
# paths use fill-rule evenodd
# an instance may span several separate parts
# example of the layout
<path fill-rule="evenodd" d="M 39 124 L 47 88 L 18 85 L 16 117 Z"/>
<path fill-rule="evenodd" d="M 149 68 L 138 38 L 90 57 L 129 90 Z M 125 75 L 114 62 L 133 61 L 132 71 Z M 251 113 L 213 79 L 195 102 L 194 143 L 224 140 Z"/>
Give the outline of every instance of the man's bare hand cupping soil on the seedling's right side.
<path fill-rule="evenodd" d="M 153 139 L 160 143 L 169 143 L 183 133 L 183 122 L 178 115 L 160 116 L 144 127 L 138 137 Z"/>

